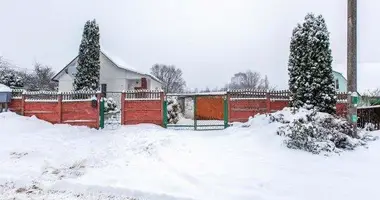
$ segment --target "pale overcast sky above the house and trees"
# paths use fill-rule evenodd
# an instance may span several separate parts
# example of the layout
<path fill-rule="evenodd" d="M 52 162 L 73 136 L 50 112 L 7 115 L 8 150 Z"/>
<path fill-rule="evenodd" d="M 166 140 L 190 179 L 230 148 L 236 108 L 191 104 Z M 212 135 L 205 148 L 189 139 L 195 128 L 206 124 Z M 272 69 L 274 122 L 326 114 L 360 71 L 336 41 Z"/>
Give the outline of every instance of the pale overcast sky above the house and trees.
<path fill-rule="evenodd" d="M 96 18 L 101 46 L 134 68 L 183 70 L 190 88 L 226 84 L 239 71 L 287 87 L 292 29 L 322 14 L 334 63 L 346 60 L 347 0 L 0 0 L 0 55 L 19 67 L 63 68 L 77 55 L 86 20 Z M 380 62 L 380 1 L 358 0 L 359 62 Z M 360 80 L 359 80 L 360 81 Z"/>

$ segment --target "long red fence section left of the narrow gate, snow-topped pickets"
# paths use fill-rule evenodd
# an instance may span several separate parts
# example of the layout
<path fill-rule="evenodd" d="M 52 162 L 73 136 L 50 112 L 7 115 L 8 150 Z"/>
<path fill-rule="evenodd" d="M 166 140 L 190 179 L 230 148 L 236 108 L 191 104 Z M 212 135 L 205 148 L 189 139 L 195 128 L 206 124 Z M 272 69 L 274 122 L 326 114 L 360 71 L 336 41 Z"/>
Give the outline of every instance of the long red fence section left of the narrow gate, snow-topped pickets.
<path fill-rule="evenodd" d="M 53 124 L 99 127 L 99 99 L 95 92 L 13 91 L 11 111 L 24 116 L 36 116 Z M 97 100 L 93 106 L 90 100 Z"/>

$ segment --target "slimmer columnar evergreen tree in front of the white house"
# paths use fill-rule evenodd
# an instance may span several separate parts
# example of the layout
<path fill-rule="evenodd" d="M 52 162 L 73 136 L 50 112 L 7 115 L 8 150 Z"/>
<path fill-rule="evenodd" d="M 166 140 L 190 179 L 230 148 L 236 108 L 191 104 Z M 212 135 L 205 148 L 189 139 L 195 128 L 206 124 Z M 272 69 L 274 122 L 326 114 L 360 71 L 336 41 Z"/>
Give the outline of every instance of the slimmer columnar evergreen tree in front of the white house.
<path fill-rule="evenodd" d="M 75 90 L 98 90 L 100 76 L 99 26 L 95 19 L 84 25 L 79 46 L 78 67 L 75 74 Z"/>

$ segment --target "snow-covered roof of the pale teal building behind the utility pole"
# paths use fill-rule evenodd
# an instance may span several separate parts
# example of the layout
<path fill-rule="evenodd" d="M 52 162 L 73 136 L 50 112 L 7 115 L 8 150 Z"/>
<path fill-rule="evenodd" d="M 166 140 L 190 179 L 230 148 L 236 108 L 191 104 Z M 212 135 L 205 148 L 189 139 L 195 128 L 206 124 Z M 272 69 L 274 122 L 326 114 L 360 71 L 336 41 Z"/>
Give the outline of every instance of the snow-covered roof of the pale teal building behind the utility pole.
<path fill-rule="evenodd" d="M 347 65 L 337 64 L 334 67 L 335 71 L 341 72 L 346 78 Z M 380 74 L 380 63 L 358 63 L 357 65 L 357 84 L 358 92 L 366 92 L 380 88 L 380 82 L 377 81 Z"/>

